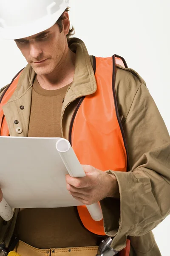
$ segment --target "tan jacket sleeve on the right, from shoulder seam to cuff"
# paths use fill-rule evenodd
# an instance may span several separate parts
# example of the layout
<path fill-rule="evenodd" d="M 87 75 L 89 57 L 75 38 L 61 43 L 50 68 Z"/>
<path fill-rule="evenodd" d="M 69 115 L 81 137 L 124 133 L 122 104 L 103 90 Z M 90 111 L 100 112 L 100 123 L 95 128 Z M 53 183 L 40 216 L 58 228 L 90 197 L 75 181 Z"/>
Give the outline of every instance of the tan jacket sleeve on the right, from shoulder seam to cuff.
<path fill-rule="evenodd" d="M 145 235 L 170 213 L 170 136 L 145 84 L 136 91 L 123 128 L 130 172 L 108 171 L 116 176 L 120 201 L 101 201 L 105 233 L 115 236 L 117 250 L 125 247 L 126 236 Z"/>

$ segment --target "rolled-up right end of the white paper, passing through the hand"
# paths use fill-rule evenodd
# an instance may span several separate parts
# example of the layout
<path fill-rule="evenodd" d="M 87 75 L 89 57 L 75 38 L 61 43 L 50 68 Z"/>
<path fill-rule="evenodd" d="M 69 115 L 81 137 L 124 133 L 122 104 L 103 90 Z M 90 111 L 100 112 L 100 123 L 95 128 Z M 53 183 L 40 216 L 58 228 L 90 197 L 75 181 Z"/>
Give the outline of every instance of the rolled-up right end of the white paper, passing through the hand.
<path fill-rule="evenodd" d="M 60 139 L 56 143 L 57 151 L 71 177 L 80 178 L 85 177 L 85 172 L 79 163 L 79 160 L 74 153 L 73 148 L 71 147 L 68 140 Z M 86 205 L 91 218 L 94 221 L 101 221 L 103 218 L 102 209 L 99 202 L 91 205 Z"/>

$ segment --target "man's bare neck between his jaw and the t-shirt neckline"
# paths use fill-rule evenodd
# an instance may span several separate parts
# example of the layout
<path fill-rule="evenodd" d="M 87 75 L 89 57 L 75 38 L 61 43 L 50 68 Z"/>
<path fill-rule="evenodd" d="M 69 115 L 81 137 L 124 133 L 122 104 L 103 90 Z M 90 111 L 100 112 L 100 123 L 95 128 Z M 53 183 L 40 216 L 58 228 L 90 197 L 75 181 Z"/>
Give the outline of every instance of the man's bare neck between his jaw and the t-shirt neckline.
<path fill-rule="evenodd" d="M 70 84 L 74 78 L 75 60 L 76 54 L 68 49 L 51 73 L 37 75 L 40 86 L 46 90 L 56 90 Z"/>

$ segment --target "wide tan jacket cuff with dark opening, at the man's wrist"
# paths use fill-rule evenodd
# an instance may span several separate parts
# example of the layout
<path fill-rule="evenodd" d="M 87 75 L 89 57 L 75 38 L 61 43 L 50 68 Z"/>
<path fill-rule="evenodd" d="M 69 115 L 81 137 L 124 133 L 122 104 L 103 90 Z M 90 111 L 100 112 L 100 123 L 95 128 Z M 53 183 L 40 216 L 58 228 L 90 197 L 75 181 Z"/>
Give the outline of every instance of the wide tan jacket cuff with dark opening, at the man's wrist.
<path fill-rule="evenodd" d="M 138 182 L 131 172 L 107 171 L 115 175 L 118 185 L 120 200 L 115 198 L 104 198 L 100 204 L 103 212 L 105 233 L 114 237 L 111 246 L 115 250 L 126 247 L 128 231 L 133 229 L 135 218 L 135 199 L 133 196 L 134 182 Z M 119 204 L 118 204 L 119 201 Z M 119 216 L 118 216 L 119 212 Z"/>

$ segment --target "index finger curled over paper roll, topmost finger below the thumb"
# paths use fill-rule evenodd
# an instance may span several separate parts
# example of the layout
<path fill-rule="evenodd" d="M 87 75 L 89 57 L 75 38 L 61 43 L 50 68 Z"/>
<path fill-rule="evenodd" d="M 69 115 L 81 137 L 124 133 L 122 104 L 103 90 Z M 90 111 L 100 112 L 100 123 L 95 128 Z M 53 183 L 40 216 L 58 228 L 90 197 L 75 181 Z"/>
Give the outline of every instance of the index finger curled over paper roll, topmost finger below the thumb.
<path fill-rule="evenodd" d="M 68 183 L 71 186 L 74 186 L 75 188 L 85 188 L 92 186 L 90 177 L 74 178 L 66 174 L 65 179 L 66 183 Z"/>

